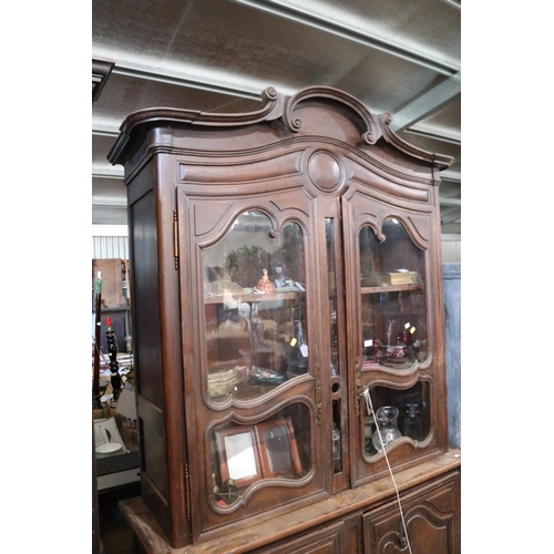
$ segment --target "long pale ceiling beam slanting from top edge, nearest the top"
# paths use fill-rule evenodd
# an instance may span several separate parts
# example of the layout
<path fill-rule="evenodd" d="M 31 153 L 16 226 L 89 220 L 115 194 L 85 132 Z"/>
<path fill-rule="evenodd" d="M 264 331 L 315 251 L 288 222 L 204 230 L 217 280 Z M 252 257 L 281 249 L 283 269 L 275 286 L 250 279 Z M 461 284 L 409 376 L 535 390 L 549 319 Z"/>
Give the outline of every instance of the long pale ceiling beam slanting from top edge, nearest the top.
<path fill-rule="evenodd" d="M 290 4 L 286 0 L 232 0 L 233 2 L 248 6 L 256 10 L 265 11 L 271 13 L 273 16 L 278 16 L 296 23 L 301 23 L 315 29 L 318 29 L 342 39 L 357 42 L 388 54 L 394 55 L 397 58 L 402 58 L 418 65 L 429 68 L 443 75 L 453 75 L 459 69 L 425 54 L 416 52 L 411 48 L 406 48 L 401 44 L 394 43 L 390 40 L 384 40 L 380 37 L 372 35 L 362 29 L 355 28 L 351 24 L 339 21 L 335 17 L 337 11 L 335 11 L 334 17 L 329 17 L 329 9 L 326 12 L 317 12 L 311 9 L 299 8 L 297 4 Z M 306 2 L 308 3 L 308 2 Z M 306 6 L 306 3 L 304 6 Z"/>

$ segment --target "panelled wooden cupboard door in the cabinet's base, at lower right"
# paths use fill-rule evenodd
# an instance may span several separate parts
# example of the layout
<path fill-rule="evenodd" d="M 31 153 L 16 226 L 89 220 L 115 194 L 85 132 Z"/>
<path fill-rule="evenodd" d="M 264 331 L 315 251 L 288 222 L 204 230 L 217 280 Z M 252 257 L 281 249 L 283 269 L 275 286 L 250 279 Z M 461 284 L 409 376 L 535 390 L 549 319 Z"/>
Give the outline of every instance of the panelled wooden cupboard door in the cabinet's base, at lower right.
<path fill-rule="evenodd" d="M 460 473 L 401 495 L 406 529 L 397 501 L 363 515 L 366 554 L 460 554 Z"/>

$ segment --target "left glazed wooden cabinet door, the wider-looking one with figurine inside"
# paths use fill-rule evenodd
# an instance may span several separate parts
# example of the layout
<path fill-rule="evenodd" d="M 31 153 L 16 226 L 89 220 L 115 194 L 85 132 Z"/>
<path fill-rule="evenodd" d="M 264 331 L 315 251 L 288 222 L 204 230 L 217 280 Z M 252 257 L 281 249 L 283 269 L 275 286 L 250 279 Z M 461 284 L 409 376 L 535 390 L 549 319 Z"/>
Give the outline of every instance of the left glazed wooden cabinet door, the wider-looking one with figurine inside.
<path fill-rule="evenodd" d="M 177 189 L 194 540 L 331 488 L 312 202 L 256 191 Z"/>

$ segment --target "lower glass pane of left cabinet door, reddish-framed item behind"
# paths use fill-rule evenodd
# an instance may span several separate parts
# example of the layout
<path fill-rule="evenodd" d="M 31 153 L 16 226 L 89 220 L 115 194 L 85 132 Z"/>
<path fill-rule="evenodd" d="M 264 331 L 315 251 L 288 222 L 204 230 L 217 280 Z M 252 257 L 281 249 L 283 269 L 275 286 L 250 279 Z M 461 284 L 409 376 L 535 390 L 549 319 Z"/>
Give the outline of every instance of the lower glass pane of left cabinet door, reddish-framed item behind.
<path fill-rule="evenodd" d="M 216 427 L 211 437 L 213 501 L 229 506 L 260 482 L 275 486 L 306 476 L 311 469 L 311 420 L 309 408 L 295 402 L 257 423 Z"/>

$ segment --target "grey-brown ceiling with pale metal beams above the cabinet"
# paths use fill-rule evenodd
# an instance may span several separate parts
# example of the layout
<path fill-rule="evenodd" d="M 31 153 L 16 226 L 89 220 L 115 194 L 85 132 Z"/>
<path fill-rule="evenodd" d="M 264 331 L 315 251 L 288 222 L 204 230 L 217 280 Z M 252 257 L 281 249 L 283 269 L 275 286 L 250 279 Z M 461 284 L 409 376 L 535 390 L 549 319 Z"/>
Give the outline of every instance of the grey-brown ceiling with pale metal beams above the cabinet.
<path fill-rule="evenodd" d="M 92 0 L 92 223 L 126 224 L 123 168 L 106 154 L 130 113 L 252 111 L 266 86 L 317 84 L 455 158 L 441 223 L 461 235 L 460 20 L 460 0 Z"/>

